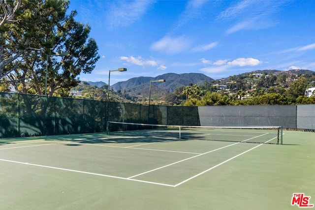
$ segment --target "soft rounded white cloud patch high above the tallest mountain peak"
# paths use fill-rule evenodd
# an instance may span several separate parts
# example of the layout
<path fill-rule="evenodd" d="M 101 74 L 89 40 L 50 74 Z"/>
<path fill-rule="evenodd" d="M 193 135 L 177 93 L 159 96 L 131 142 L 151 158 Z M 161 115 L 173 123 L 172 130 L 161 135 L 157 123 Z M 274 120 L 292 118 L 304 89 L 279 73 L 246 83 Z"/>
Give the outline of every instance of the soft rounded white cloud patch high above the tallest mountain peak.
<path fill-rule="evenodd" d="M 161 40 L 152 44 L 151 49 L 161 51 L 167 54 L 177 54 L 187 50 L 191 41 L 184 36 L 172 38 L 165 36 Z"/>

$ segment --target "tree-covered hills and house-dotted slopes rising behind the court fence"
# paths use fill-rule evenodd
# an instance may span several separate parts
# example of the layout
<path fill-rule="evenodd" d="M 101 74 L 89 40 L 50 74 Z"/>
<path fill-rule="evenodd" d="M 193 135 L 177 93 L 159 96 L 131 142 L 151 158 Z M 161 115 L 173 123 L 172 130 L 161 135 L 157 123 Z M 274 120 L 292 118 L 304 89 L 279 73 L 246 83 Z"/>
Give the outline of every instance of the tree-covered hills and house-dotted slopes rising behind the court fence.
<path fill-rule="evenodd" d="M 255 94 L 260 95 L 267 91 L 284 94 L 288 90 L 290 83 L 300 75 L 306 78 L 309 87 L 314 86 L 315 72 L 301 69 L 288 71 L 255 70 L 218 80 L 213 80 L 200 73 L 167 73 L 157 77 L 136 77 L 125 82 L 116 83 L 111 86 L 114 90 L 114 94 L 111 97 L 115 101 L 147 103 L 150 92 L 150 81 L 160 79 L 164 79 L 166 82 L 153 82 L 151 86 L 151 99 L 157 103 L 159 101 L 166 101 L 165 103 L 168 104 L 182 103 L 187 97 L 182 93 L 182 88 L 184 87 L 192 88 L 191 90 L 200 87 L 203 90 L 211 92 L 221 92 L 221 94 L 229 95 L 229 97 L 233 95 L 240 97 L 237 94 L 241 93 L 241 98 L 252 97 Z M 101 86 L 102 88 L 97 88 L 96 86 Z M 107 94 L 106 86 L 107 84 L 103 82 L 82 82 L 81 85 L 76 87 L 76 90 L 82 90 L 82 95 L 85 98 L 104 99 Z M 198 95 L 201 92 L 200 89 L 194 94 Z"/>

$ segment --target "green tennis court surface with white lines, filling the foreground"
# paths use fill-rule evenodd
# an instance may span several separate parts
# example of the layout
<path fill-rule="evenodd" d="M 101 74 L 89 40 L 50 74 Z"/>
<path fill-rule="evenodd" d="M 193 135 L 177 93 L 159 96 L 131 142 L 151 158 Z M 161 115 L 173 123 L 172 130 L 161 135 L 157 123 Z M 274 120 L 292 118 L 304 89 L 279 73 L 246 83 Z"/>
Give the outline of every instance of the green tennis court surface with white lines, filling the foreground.
<path fill-rule="evenodd" d="M 315 133 L 283 145 L 78 134 L 0 139 L 0 210 L 294 210 Z"/>

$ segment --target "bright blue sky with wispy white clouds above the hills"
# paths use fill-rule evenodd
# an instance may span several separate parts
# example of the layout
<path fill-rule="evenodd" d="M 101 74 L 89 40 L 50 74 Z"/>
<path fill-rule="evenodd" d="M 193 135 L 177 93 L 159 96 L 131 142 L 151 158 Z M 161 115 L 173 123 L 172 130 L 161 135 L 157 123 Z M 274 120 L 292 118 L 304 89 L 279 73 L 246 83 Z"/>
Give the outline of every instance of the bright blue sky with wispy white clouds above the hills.
<path fill-rule="evenodd" d="M 100 59 L 82 81 L 165 73 L 213 79 L 253 70 L 315 71 L 315 0 L 70 0 Z M 167 79 L 167 78 L 165 78 Z"/>

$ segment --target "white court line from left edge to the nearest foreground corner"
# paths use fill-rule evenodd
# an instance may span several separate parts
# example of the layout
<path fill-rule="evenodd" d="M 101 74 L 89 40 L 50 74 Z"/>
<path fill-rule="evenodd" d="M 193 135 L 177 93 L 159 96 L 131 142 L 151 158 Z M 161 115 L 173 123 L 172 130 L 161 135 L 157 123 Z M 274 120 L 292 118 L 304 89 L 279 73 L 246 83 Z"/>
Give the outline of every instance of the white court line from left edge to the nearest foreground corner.
<path fill-rule="evenodd" d="M 97 174 L 97 173 L 91 173 L 91 172 L 86 172 L 86 171 L 78 171 L 78 170 L 59 168 L 59 167 L 53 167 L 53 166 L 38 165 L 38 164 L 25 163 L 25 162 L 13 161 L 13 160 L 5 160 L 5 159 L 0 159 L 0 160 L 5 161 L 5 162 L 11 162 L 11 163 L 19 163 L 19 164 L 24 164 L 24 165 L 37 166 L 37 167 L 42 167 L 42 168 L 57 169 L 57 170 L 70 171 L 70 172 L 76 172 L 76 173 L 81 173 L 81 174 L 89 174 L 89 175 L 95 175 L 95 176 L 101 176 L 101 177 L 116 178 L 116 179 L 121 179 L 121 180 L 132 180 L 132 181 L 139 181 L 139 182 L 145 182 L 145 183 L 150 183 L 150 184 L 158 184 L 158 185 L 163 185 L 163 186 L 174 187 L 174 185 L 171 185 L 171 184 L 163 184 L 163 183 L 152 182 L 152 181 L 134 180 L 134 179 L 128 179 L 128 178 L 124 178 L 124 177 L 116 177 L 116 176 L 105 175 L 105 174 Z"/>

